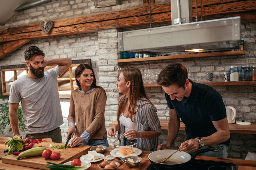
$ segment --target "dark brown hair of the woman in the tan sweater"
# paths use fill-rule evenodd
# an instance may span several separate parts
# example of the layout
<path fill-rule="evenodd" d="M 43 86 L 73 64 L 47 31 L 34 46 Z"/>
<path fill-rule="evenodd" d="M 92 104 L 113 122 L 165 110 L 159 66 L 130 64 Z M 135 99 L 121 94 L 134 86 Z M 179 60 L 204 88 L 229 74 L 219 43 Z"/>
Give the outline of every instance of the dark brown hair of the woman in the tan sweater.
<path fill-rule="evenodd" d="M 106 99 L 107 99 L 107 95 L 106 95 L 105 90 L 104 90 L 102 87 L 96 85 L 96 78 L 95 78 L 95 75 L 94 75 L 94 71 L 93 71 L 93 69 L 92 69 L 92 67 L 91 67 L 90 65 L 88 65 L 88 64 L 80 64 L 79 66 L 77 66 L 77 68 L 76 68 L 76 70 L 75 70 L 75 78 L 76 78 L 77 76 L 80 77 L 81 74 L 82 74 L 82 72 L 83 72 L 83 70 L 85 70 L 85 69 L 90 69 L 90 70 L 92 70 L 93 81 L 92 81 L 91 87 L 92 87 L 92 88 L 100 88 L 100 89 L 102 89 L 102 90 L 104 91 L 105 97 L 106 97 Z M 81 90 L 81 85 L 80 85 L 79 81 L 77 80 L 77 78 L 76 78 L 76 82 L 77 82 L 78 88 Z"/>

